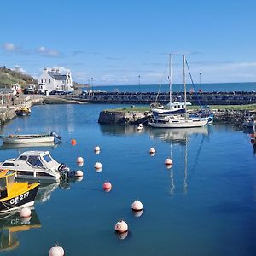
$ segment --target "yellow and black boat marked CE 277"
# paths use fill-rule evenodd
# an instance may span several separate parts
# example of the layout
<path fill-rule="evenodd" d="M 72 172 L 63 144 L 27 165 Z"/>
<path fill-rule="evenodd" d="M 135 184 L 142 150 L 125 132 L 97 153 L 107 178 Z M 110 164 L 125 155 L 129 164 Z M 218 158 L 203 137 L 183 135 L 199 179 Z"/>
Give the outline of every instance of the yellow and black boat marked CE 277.
<path fill-rule="evenodd" d="M 0 169 L 0 213 L 34 204 L 40 183 L 17 183 L 15 171 Z"/>

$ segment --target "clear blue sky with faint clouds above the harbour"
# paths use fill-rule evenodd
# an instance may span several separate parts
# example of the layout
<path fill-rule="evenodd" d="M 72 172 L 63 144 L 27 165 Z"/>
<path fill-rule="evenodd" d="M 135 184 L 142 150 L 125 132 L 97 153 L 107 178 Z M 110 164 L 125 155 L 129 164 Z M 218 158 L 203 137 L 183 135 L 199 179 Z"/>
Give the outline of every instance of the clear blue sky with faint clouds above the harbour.
<path fill-rule="evenodd" d="M 0 65 L 32 74 L 68 68 L 95 85 L 256 81 L 255 1 L 22 0 L 1 2 Z"/>

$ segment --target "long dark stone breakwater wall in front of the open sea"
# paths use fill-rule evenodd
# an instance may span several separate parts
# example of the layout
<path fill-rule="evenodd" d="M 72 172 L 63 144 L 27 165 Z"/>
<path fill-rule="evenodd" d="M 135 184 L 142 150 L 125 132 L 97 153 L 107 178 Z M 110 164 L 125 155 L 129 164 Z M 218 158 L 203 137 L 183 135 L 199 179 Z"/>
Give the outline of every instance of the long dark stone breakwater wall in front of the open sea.
<path fill-rule="evenodd" d="M 67 96 L 68 98 L 68 96 Z M 76 96 L 78 101 L 108 104 L 167 104 L 169 93 L 93 92 Z M 183 101 L 184 94 L 172 94 L 172 101 Z M 247 91 L 187 93 L 187 102 L 193 105 L 243 105 L 256 103 L 256 93 Z"/>

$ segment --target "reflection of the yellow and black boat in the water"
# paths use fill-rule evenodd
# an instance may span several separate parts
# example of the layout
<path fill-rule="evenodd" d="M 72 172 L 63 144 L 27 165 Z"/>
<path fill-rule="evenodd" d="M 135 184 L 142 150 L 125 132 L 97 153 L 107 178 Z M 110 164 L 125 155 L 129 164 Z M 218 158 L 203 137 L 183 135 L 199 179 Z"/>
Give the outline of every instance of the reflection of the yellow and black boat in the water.
<path fill-rule="evenodd" d="M 41 223 L 37 212 L 32 210 L 32 215 L 29 219 L 20 218 L 19 212 L 12 212 L 8 215 L 0 216 L 0 252 L 14 250 L 19 247 L 20 241 L 17 233 L 21 231 L 40 228 Z"/>

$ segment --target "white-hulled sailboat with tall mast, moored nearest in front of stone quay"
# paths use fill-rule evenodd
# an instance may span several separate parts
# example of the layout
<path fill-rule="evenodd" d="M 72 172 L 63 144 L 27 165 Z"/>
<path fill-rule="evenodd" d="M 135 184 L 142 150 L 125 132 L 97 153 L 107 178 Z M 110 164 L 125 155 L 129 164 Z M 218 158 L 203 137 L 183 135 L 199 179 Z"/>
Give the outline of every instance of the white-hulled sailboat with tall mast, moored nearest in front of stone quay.
<path fill-rule="evenodd" d="M 185 55 L 183 55 L 183 84 L 184 84 L 184 109 L 187 107 L 186 75 L 185 75 Z M 172 73 L 171 73 L 172 76 Z M 172 83 L 170 83 L 172 84 Z M 170 94 L 172 90 L 170 90 Z M 207 125 L 207 118 L 189 117 L 184 114 L 165 114 L 163 116 L 154 116 L 148 119 L 148 124 L 154 128 L 193 128 Z"/>

